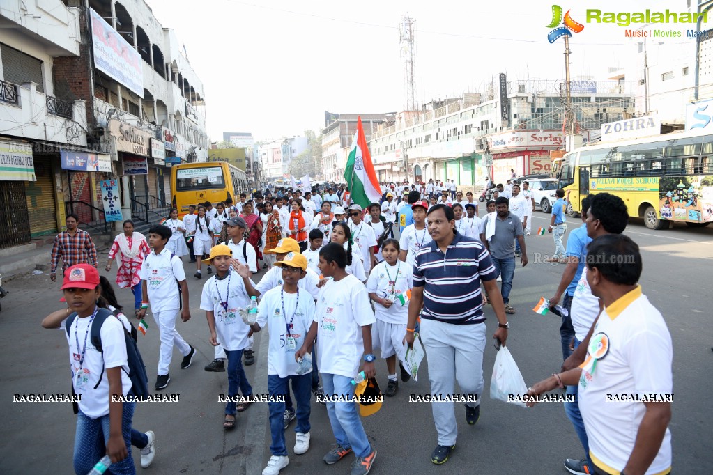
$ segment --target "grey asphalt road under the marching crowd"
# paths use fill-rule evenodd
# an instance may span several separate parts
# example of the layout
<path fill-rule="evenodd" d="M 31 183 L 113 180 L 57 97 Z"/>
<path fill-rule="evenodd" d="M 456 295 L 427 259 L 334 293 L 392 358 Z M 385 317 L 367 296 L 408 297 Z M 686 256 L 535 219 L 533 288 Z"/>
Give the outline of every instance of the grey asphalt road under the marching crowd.
<path fill-rule="evenodd" d="M 575 224 L 576 222 L 576 224 Z M 570 219 L 570 230 L 578 225 Z M 535 212 L 533 228 L 546 225 L 545 215 Z M 713 466 L 713 432 L 709 419 L 713 394 L 713 330 L 710 292 L 713 273 L 713 226 L 688 229 L 676 226 L 650 231 L 641 221 L 632 221 L 627 234 L 640 244 L 644 256 L 644 293 L 665 315 L 674 344 L 673 466 L 676 474 L 702 474 Z M 528 384 L 558 370 L 561 363 L 559 321 L 552 315 L 537 315 L 531 308 L 540 296 L 550 297 L 563 266 L 538 263 L 553 249 L 552 237 L 530 236 L 530 263 L 515 271 L 508 346 Z M 101 256 L 101 263 L 106 255 Z M 103 266 L 102 266 L 103 267 Z M 267 404 L 252 404 L 238 417 L 232 432 L 222 429 L 223 404 L 217 395 L 227 392 L 225 372 L 205 372 L 212 360 L 205 313 L 198 309 L 205 278 L 193 278 L 193 264 L 185 264 L 191 295 L 192 318 L 177 328 L 198 350 L 193 365 L 180 370 L 180 355 L 174 353 L 171 382 L 163 393 L 180 395 L 180 402 L 140 404 L 134 427 L 156 434 L 157 454 L 149 469 L 140 469 L 139 453 L 133 450 L 137 471 L 155 474 L 260 474 L 270 457 Z M 103 274 L 108 275 L 109 273 Z M 260 278 L 262 272 L 257 276 Z M 112 278 L 113 281 L 113 278 Z M 66 338 L 58 330 L 43 330 L 41 319 L 61 308 L 59 284 L 48 275 L 27 275 L 6 284 L 11 294 L 2 301 L 0 313 L 0 437 L 1 472 L 4 474 L 71 473 L 75 417 L 68 403 L 12 402 L 14 394 L 66 393 L 70 381 Z M 128 308 L 133 297 L 118 290 Z M 491 308 L 486 308 L 488 336 L 496 328 Z M 148 320 L 148 335 L 139 335 L 139 347 L 153 385 L 158 362 L 158 330 Z M 256 394 L 267 392 L 267 345 L 256 335 L 257 362 L 247 367 Z M 379 451 L 371 473 L 473 473 L 565 474 L 563 460 L 580 458 L 580 447 L 561 404 L 538 404 L 523 409 L 493 401 L 489 388 L 496 350 L 488 344 L 483 363 L 486 390 L 481 419 L 476 426 L 465 422 L 464 409 L 456 406 L 458 444 L 444 466 L 429 461 L 436 445 L 436 430 L 430 404 L 409 403 L 409 393 L 429 393 L 426 365 L 419 382 L 401 383 L 396 397 L 386 398 L 381 411 L 363 419 L 374 447 Z M 386 365 L 376 366 L 382 390 Z M 352 456 L 336 466 L 327 466 L 322 456 L 333 442 L 327 412 L 312 403 L 312 444 L 307 454 L 295 456 L 294 425 L 287 431 L 290 463 L 282 474 L 347 474 Z"/>

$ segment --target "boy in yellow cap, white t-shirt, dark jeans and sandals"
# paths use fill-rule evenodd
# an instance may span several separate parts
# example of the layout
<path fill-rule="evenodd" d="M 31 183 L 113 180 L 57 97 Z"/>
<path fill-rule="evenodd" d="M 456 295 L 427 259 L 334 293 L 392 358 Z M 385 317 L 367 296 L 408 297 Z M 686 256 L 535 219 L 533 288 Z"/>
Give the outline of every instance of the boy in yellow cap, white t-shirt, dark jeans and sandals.
<path fill-rule="evenodd" d="M 210 329 L 210 344 L 220 345 L 227 355 L 227 394 L 231 398 L 225 406 L 223 428 L 235 428 L 237 414 L 237 390 L 249 400 L 252 387 L 247 382 L 242 367 L 242 350 L 247 348 L 247 334 L 250 327 L 242 321 L 250 304 L 250 297 L 255 295 L 245 281 L 250 281 L 250 270 L 245 264 L 237 263 L 237 271 L 232 269 L 232 251 L 225 244 L 213 246 L 206 263 L 215 264 L 215 276 L 207 280 L 200 298 L 200 308 L 205 310 L 205 318 Z M 247 402 L 247 401 L 246 401 Z"/>

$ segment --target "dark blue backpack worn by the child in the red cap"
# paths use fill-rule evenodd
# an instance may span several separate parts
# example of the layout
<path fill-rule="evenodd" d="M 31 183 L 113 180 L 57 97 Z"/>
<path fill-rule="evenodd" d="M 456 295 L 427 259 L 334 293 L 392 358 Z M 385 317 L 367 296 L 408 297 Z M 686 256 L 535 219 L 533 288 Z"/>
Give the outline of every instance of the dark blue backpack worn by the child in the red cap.
<path fill-rule="evenodd" d="M 94 317 L 94 321 L 92 322 L 92 325 L 91 325 L 91 331 L 89 333 L 89 340 L 91 341 L 91 344 L 94 345 L 100 353 L 103 353 L 103 348 L 101 345 L 101 325 L 104 324 L 104 321 L 107 318 L 117 318 L 118 319 L 118 313 L 119 313 L 118 310 L 116 310 L 114 313 L 112 313 L 111 310 L 108 310 L 108 308 L 100 308 L 97 311 L 96 316 Z M 72 328 L 72 323 L 74 322 L 74 319 L 76 318 L 76 316 L 77 316 L 77 313 L 74 312 L 67 317 L 67 322 L 66 322 L 66 327 L 65 327 L 66 331 L 67 331 L 67 335 L 69 335 L 69 330 L 70 330 L 70 328 Z M 141 357 L 141 353 L 139 352 L 138 346 L 136 345 L 136 338 L 137 338 L 136 329 L 131 324 L 131 322 L 129 322 L 129 325 L 131 327 L 131 331 L 129 332 L 126 330 L 123 323 L 121 323 L 121 320 L 119 320 L 119 323 L 121 324 L 121 328 L 123 328 L 123 330 L 124 330 L 124 343 L 126 344 L 126 360 L 128 362 L 128 367 L 129 367 L 128 377 L 131 380 L 130 392 L 134 396 L 148 397 L 148 395 L 149 395 L 148 376 L 146 375 L 146 366 L 143 363 L 143 358 Z M 97 387 L 99 387 L 99 384 L 101 383 L 101 380 L 103 377 L 104 377 L 104 367 L 101 368 L 101 374 L 99 375 L 99 380 L 96 382 L 96 385 L 94 386 L 95 390 Z M 76 414 L 76 409 L 75 409 L 75 414 Z"/>

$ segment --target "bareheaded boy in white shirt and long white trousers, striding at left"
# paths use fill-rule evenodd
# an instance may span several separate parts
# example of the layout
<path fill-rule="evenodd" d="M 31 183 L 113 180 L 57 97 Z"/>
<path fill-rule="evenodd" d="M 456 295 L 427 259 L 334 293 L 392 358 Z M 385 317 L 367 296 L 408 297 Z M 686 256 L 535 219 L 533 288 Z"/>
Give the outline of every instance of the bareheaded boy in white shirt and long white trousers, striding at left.
<path fill-rule="evenodd" d="M 173 346 L 178 347 L 183 361 L 180 369 L 185 370 L 193 362 L 195 348 L 185 343 L 183 337 L 176 330 L 176 315 L 181 308 L 180 317 L 183 322 L 190 320 L 190 302 L 188 300 L 188 284 L 185 282 L 183 263 L 177 256 L 172 256 L 165 249 L 171 230 L 166 226 L 152 226 L 148 230 L 148 246 L 153 252 L 143 261 L 139 276 L 142 280 L 143 301 L 136 318 L 144 318 L 149 303 L 153 319 L 158 325 L 161 338 L 161 348 L 158 355 L 158 371 L 156 377 L 156 390 L 163 390 L 171 380 L 168 367 L 173 357 Z M 178 284 L 176 283 L 178 281 Z"/>

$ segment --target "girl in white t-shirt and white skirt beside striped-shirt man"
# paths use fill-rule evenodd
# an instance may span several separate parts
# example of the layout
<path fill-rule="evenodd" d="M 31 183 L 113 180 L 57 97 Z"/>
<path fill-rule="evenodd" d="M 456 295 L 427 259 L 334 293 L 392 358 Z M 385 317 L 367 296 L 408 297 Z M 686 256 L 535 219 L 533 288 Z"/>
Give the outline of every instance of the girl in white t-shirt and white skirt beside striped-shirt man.
<path fill-rule="evenodd" d="M 386 358 L 389 370 L 389 384 L 386 396 L 396 395 L 399 380 L 396 380 L 396 357 L 399 357 L 401 381 L 408 381 L 411 376 L 404 369 L 402 362 L 406 357 L 404 335 L 409 321 L 409 303 L 407 292 L 414 286 L 414 268 L 399 261 L 399 241 L 386 239 L 381 248 L 384 262 L 377 264 L 366 281 L 366 291 L 374 302 L 376 316 L 375 335 L 381 348 L 381 357 Z"/>

